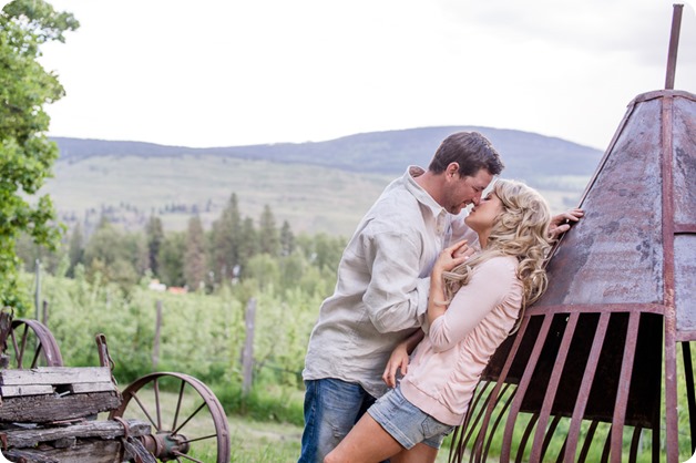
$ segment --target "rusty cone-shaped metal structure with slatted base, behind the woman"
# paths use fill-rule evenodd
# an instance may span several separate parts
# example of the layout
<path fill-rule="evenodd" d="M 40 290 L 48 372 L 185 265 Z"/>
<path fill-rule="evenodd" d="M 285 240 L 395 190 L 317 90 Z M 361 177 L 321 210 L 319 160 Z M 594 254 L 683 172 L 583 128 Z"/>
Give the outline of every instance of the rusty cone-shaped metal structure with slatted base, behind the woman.
<path fill-rule="evenodd" d="M 636 96 L 581 206 L 549 290 L 482 375 L 454 461 L 465 445 L 485 461 L 493 436 L 505 462 L 590 461 L 597 446 L 603 461 L 636 461 L 648 430 L 653 461 L 676 463 L 676 343 L 696 340 L 696 96 Z"/>

